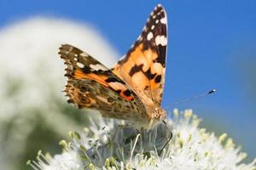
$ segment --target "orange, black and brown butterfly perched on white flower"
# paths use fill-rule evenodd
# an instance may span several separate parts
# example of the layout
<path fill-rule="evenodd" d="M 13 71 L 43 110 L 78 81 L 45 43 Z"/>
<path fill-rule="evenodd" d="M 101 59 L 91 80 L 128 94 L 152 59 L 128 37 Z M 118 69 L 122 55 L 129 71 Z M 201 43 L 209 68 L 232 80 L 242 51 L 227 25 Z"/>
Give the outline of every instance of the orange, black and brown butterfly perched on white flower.
<path fill-rule="evenodd" d="M 132 127 L 154 127 L 166 118 L 160 106 L 166 45 L 167 18 L 161 5 L 154 8 L 137 41 L 111 69 L 79 48 L 61 45 L 59 54 L 67 65 L 67 101 L 80 109 L 123 119 Z"/>

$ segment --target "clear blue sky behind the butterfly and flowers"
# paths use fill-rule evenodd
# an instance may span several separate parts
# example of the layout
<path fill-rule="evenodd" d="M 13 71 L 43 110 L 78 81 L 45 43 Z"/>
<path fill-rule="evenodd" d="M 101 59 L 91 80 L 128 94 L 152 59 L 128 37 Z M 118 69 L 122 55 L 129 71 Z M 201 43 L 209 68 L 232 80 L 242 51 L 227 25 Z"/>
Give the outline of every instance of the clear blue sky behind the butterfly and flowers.
<path fill-rule="evenodd" d="M 83 21 L 101 31 L 121 56 L 158 3 L 166 8 L 169 30 L 163 105 L 217 88 L 217 94 L 177 108 L 192 108 L 206 123 L 221 124 L 256 156 L 256 113 L 239 70 L 243 62 L 256 60 L 256 1 L 1 0 L 0 26 L 35 15 Z"/>

